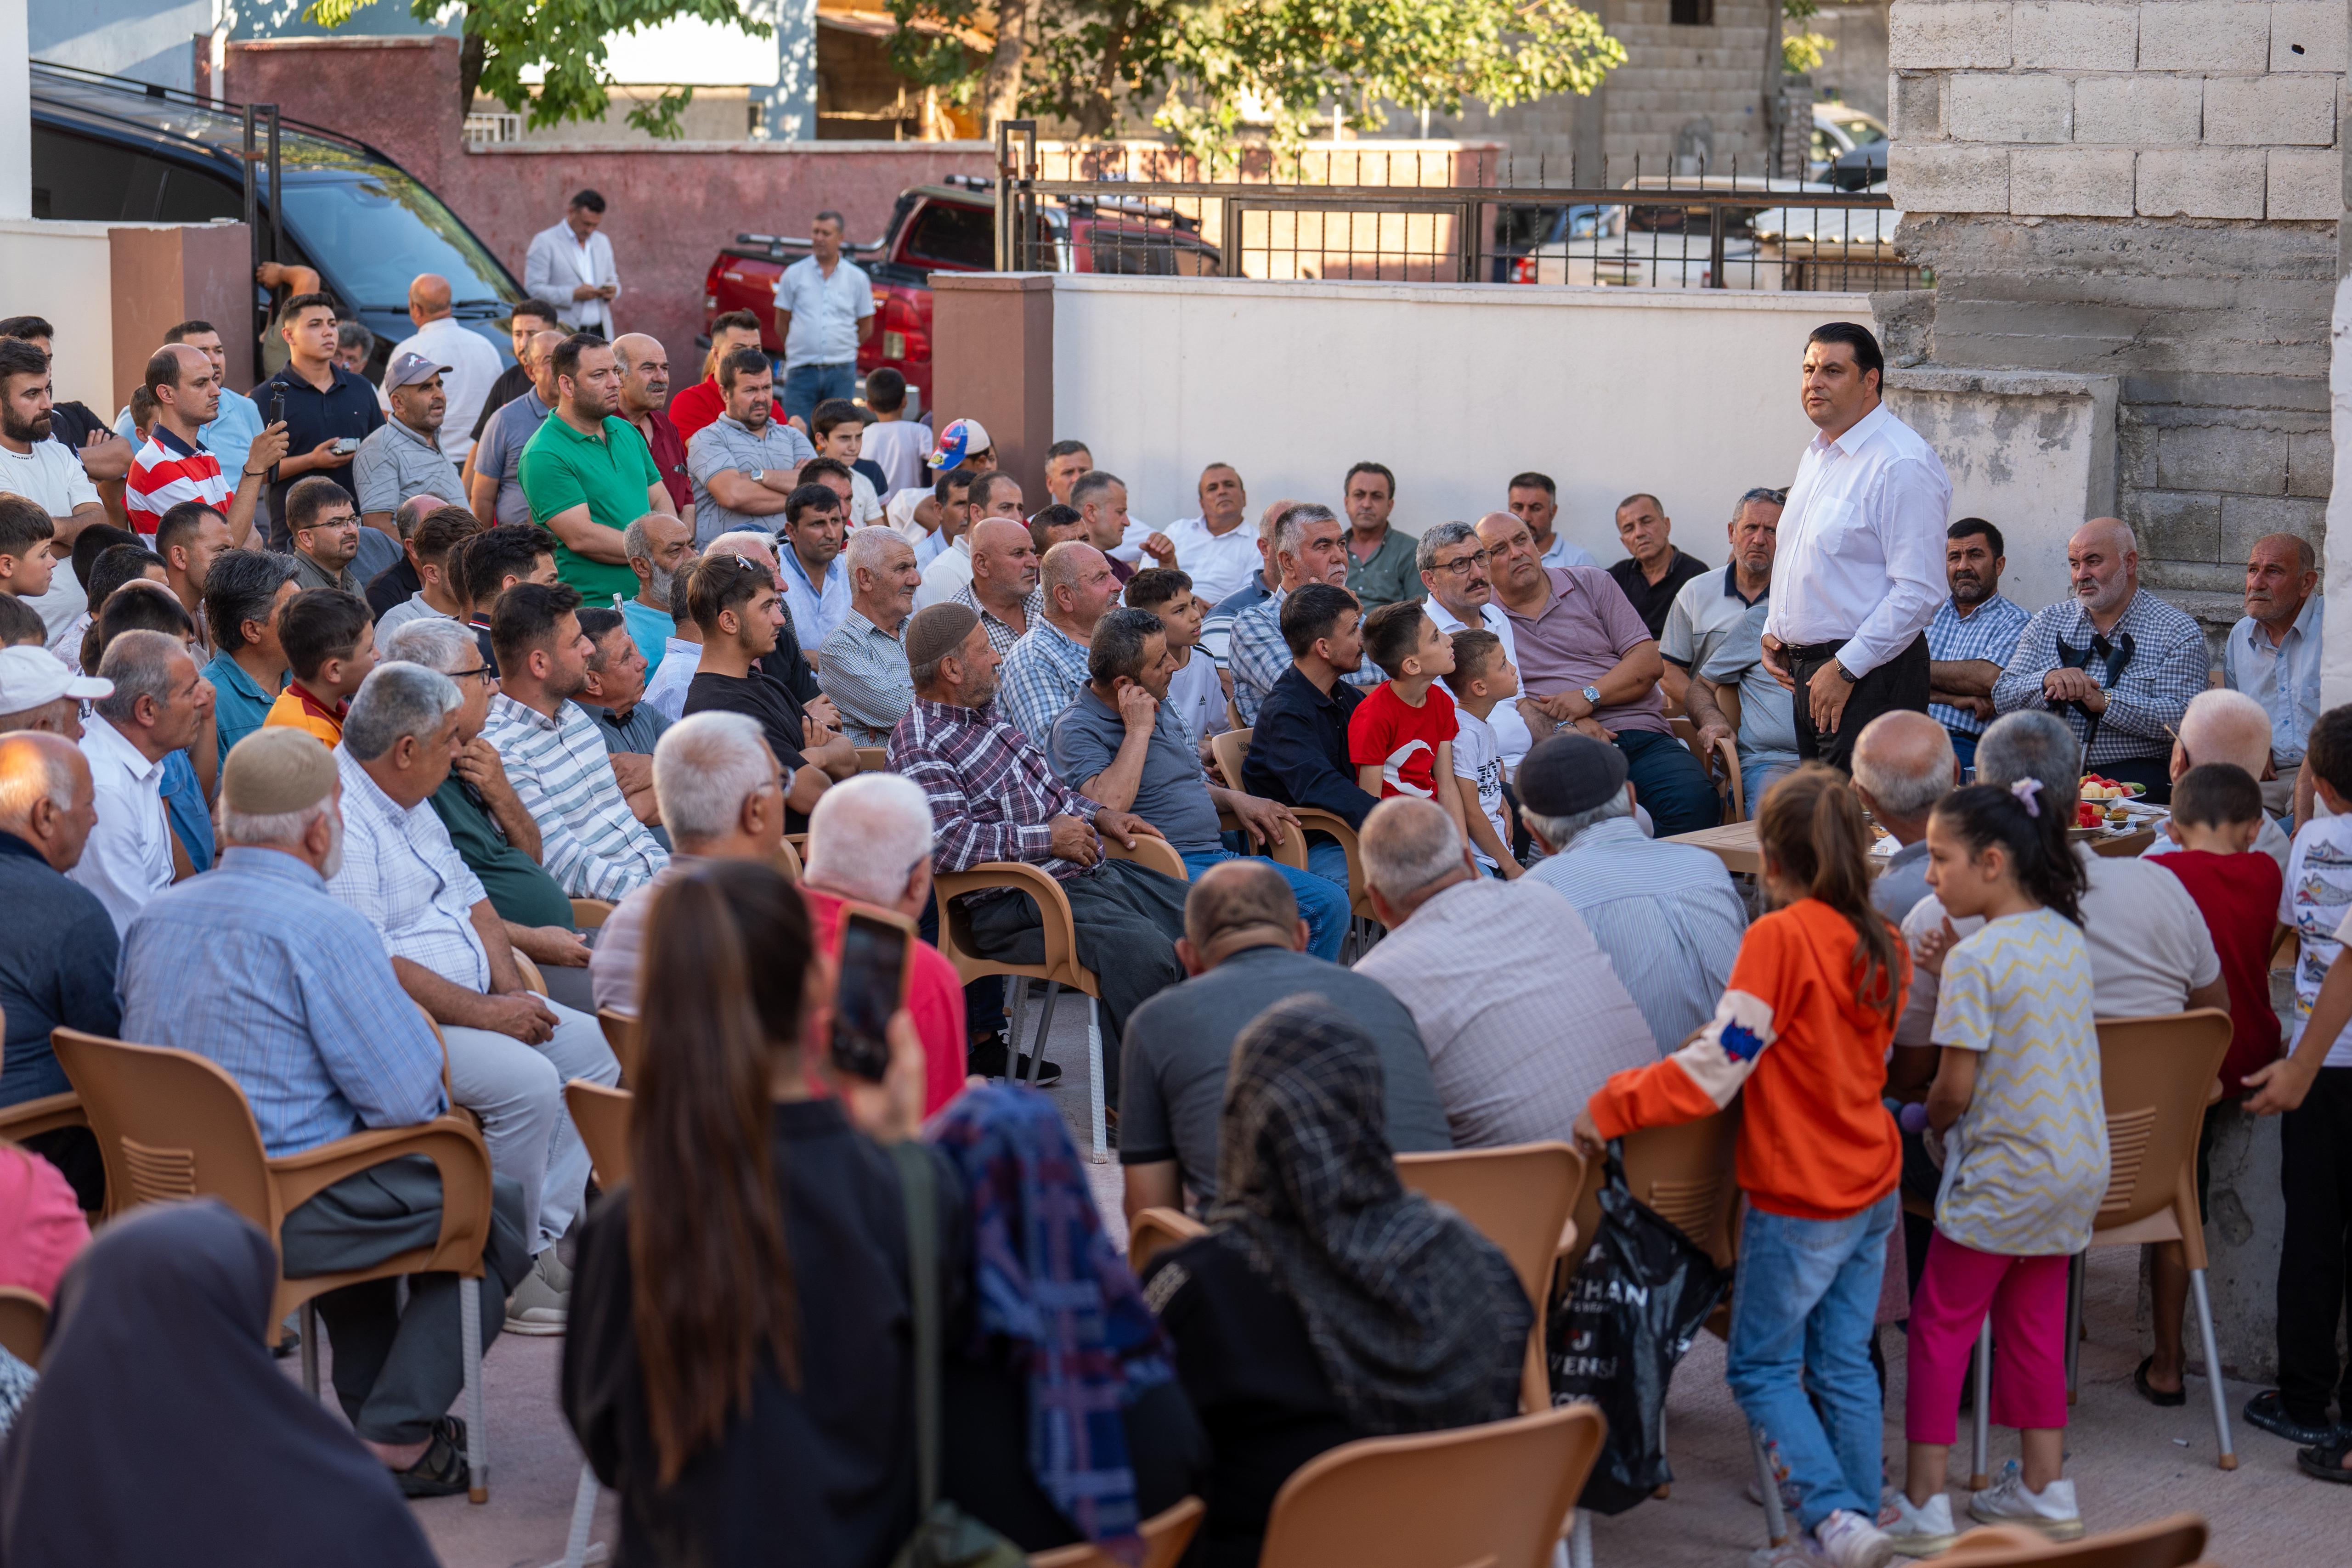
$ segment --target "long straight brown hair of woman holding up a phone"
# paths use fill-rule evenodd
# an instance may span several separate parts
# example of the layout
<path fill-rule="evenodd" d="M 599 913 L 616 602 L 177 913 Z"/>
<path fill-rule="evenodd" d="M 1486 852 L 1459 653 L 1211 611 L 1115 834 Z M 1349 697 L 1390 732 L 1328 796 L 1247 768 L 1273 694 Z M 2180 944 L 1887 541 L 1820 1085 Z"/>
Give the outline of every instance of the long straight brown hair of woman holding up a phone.
<path fill-rule="evenodd" d="M 767 865 L 677 872 L 654 896 L 630 1074 L 628 1260 L 663 1486 L 750 1406 L 762 1349 L 800 1387 L 769 1081 L 800 1039 L 807 969 L 807 905 Z"/>

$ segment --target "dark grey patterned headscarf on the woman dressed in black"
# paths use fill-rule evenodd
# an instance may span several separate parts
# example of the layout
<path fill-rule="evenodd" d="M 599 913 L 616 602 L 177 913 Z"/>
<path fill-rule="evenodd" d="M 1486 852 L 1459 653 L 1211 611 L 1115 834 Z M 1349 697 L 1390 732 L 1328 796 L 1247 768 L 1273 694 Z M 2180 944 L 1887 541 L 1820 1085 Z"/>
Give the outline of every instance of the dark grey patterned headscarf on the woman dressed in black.
<path fill-rule="evenodd" d="M 1378 1051 L 1329 1001 L 1282 1001 L 1232 1044 L 1216 1190 L 1209 1225 L 1298 1305 L 1357 1427 L 1517 1410 L 1526 1291 L 1458 1213 L 1397 1182 Z"/>

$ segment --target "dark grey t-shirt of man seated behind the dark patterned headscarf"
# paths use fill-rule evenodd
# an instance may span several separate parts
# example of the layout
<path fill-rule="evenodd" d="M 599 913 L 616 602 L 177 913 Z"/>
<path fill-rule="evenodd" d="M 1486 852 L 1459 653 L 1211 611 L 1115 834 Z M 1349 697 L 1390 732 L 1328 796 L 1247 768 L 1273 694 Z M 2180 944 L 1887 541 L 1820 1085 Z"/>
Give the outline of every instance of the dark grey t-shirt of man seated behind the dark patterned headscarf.
<path fill-rule="evenodd" d="M 1322 997 L 1381 1048 L 1388 1145 L 1451 1150 L 1421 1030 L 1385 985 L 1289 947 L 1249 947 L 1171 985 L 1127 1020 L 1120 1058 L 1120 1164 L 1174 1159 L 1202 1204 L 1216 1197 L 1216 1128 L 1235 1037 L 1289 997 Z"/>

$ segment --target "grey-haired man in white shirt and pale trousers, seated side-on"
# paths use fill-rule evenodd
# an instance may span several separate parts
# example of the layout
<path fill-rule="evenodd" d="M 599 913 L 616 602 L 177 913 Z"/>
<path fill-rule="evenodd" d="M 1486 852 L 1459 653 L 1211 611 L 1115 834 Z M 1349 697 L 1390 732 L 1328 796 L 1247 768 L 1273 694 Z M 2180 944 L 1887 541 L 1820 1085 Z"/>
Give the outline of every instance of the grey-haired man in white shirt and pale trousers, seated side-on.
<path fill-rule="evenodd" d="M 376 665 L 350 701 L 336 766 L 343 860 L 334 898 L 367 919 L 400 990 L 440 1025 L 449 1091 L 482 1117 L 489 1164 L 522 1185 L 536 1225 L 532 1274 L 508 1300 L 510 1333 L 562 1333 L 572 1272 L 555 1244 L 586 1201 L 588 1145 L 564 1114 L 564 1081 L 619 1084 L 588 1013 L 532 992 L 510 926 L 426 804 L 463 743 L 456 682 L 423 665 Z"/>

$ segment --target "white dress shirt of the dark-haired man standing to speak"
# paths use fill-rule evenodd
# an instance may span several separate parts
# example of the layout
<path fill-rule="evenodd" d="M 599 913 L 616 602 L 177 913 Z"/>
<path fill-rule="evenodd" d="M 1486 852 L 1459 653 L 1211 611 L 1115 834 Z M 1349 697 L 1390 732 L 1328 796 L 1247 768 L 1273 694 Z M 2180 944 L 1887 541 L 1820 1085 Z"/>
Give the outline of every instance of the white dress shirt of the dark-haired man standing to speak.
<path fill-rule="evenodd" d="M 1835 442 L 1816 435 L 1780 512 L 1764 632 L 1795 646 L 1842 642 L 1837 663 L 1870 675 L 1943 604 L 1950 515 L 1943 461 L 1886 404 Z"/>

